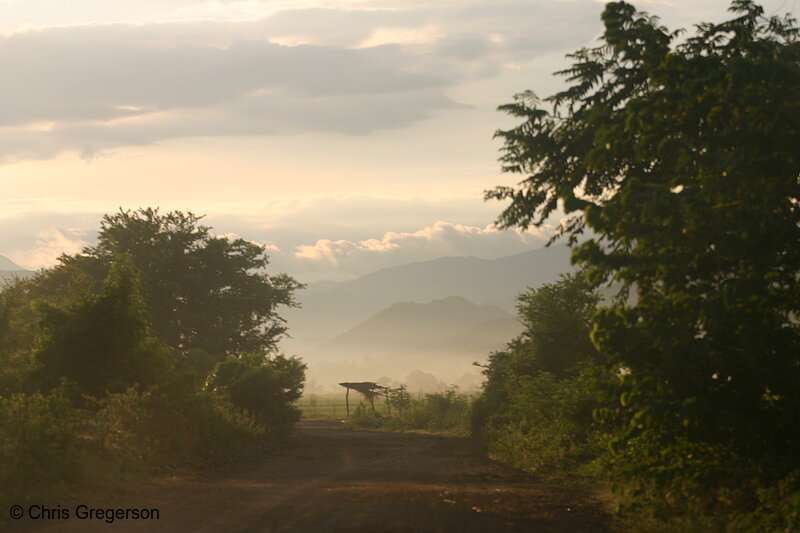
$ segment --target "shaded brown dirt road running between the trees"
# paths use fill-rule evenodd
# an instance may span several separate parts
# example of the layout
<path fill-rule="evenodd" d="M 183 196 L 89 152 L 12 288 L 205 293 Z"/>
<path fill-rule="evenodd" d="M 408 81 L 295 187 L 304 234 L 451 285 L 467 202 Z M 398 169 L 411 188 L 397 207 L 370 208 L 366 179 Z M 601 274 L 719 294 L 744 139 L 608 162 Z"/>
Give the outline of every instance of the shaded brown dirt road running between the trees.
<path fill-rule="evenodd" d="M 24 518 L 9 530 L 608 531 L 596 502 L 481 458 L 466 439 L 349 431 L 332 421 L 300 422 L 283 449 L 222 473 L 89 499 L 98 508 L 158 508 L 160 518 Z"/>

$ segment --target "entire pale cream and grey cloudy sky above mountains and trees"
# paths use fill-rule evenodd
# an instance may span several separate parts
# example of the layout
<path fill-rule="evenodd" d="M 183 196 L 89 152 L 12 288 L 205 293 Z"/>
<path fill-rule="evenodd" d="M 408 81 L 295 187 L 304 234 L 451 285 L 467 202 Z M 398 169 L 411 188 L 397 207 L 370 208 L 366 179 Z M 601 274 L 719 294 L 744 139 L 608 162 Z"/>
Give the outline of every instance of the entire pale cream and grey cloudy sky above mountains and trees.
<path fill-rule="evenodd" d="M 763 2 L 797 13 L 797 0 Z M 670 29 L 727 1 L 636 2 Z M 540 247 L 493 226 L 497 112 L 602 32 L 594 0 L 0 0 L 0 255 L 120 208 L 205 214 L 302 281 Z M 557 217 L 556 217 L 557 218 Z M 553 220 L 557 224 L 557 219 Z"/>

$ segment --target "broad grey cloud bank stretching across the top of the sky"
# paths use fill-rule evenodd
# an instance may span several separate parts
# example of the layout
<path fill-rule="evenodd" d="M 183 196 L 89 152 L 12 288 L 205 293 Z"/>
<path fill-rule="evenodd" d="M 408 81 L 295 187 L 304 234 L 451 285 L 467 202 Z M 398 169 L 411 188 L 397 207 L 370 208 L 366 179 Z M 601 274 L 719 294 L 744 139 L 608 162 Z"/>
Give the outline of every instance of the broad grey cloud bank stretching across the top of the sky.
<path fill-rule="evenodd" d="M 469 110 L 449 96 L 461 83 L 585 41 L 600 6 L 242 0 L 176 9 L 167 21 L 0 37 L 0 77 L 13 80 L 0 84 L 0 99 L 13 102 L 0 113 L 0 161 L 64 151 L 91 159 L 191 136 L 408 127 Z M 208 20 L 174 19 L 191 16 Z"/>

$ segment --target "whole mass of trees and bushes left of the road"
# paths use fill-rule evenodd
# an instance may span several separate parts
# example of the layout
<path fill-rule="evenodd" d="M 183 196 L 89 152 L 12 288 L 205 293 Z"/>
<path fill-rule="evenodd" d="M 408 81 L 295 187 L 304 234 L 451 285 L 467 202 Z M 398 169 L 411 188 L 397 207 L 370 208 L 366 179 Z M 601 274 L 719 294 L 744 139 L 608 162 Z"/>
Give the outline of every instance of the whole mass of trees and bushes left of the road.
<path fill-rule="evenodd" d="M 106 215 L 96 246 L 0 292 L 3 492 L 218 460 L 298 419 L 305 365 L 276 344 L 299 284 L 200 219 Z"/>

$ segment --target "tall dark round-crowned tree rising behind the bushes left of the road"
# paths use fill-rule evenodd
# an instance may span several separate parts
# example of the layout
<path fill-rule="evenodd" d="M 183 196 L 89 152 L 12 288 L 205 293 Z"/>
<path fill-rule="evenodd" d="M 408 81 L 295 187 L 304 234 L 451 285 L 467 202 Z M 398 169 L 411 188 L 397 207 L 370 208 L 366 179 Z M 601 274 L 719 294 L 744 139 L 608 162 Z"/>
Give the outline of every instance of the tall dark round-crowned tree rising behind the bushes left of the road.
<path fill-rule="evenodd" d="M 264 273 L 264 246 L 215 237 L 201 219 L 151 208 L 105 215 L 98 244 L 62 257 L 62 266 L 103 272 L 118 254 L 130 254 L 154 332 L 184 356 L 203 351 L 219 361 L 274 347 L 286 331 L 276 308 L 293 305 L 301 285 Z"/>

